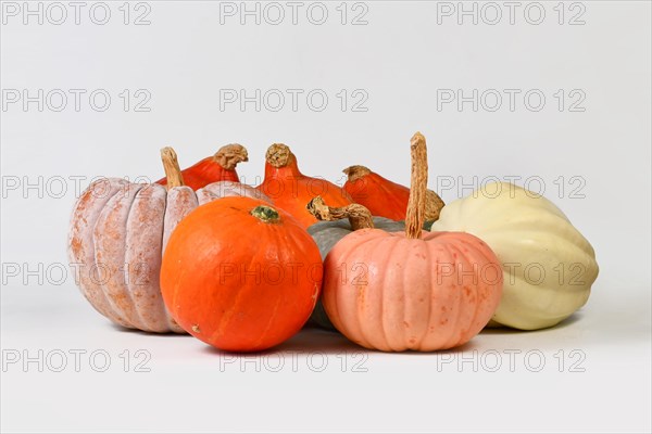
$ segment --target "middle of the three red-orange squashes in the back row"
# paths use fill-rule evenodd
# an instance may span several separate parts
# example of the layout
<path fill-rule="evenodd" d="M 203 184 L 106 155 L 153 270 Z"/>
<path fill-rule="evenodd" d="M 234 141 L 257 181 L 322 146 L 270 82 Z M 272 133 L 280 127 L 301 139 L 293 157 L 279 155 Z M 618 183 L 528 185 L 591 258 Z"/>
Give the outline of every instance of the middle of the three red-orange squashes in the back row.
<path fill-rule="evenodd" d="M 265 179 L 258 189 L 275 205 L 290 213 L 303 228 L 317 222 L 305 208 L 305 204 L 314 196 L 321 195 L 330 206 L 346 206 L 353 202 L 346 191 L 333 182 L 301 174 L 297 157 L 285 144 L 271 145 L 265 159 Z"/>

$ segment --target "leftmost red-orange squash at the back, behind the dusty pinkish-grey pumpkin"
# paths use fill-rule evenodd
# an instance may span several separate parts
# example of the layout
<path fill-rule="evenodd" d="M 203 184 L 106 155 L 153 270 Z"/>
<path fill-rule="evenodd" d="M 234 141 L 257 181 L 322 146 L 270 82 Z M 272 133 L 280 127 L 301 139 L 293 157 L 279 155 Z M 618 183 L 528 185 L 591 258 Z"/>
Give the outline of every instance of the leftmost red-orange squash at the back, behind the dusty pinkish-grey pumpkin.
<path fill-rule="evenodd" d="M 184 182 L 192 190 L 201 189 L 212 182 L 233 181 L 239 182 L 236 166 L 240 162 L 247 162 L 247 149 L 241 144 L 227 144 L 222 146 L 215 155 L 205 157 L 192 166 L 181 170 Z M 156 181 L 161 186 L 167 183 L 167 177 Z"/>

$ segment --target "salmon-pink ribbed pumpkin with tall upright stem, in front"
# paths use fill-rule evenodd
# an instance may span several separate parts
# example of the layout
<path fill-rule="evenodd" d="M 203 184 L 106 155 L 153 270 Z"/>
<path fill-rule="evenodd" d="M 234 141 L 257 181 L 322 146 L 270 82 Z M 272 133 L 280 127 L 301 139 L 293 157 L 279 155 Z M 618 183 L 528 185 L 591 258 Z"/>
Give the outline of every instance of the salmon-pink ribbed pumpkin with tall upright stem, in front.
<path fill-rule="evenodd" d="M 324 263 L 323 303 L 351 341 L 385 352 L 462 345 L 498 307 L 502 269 L 481 240 L 425 232 L 426 142 L 412 138 L 412 191 L 405 233 L 362 229 L 340 240 Z"/>

